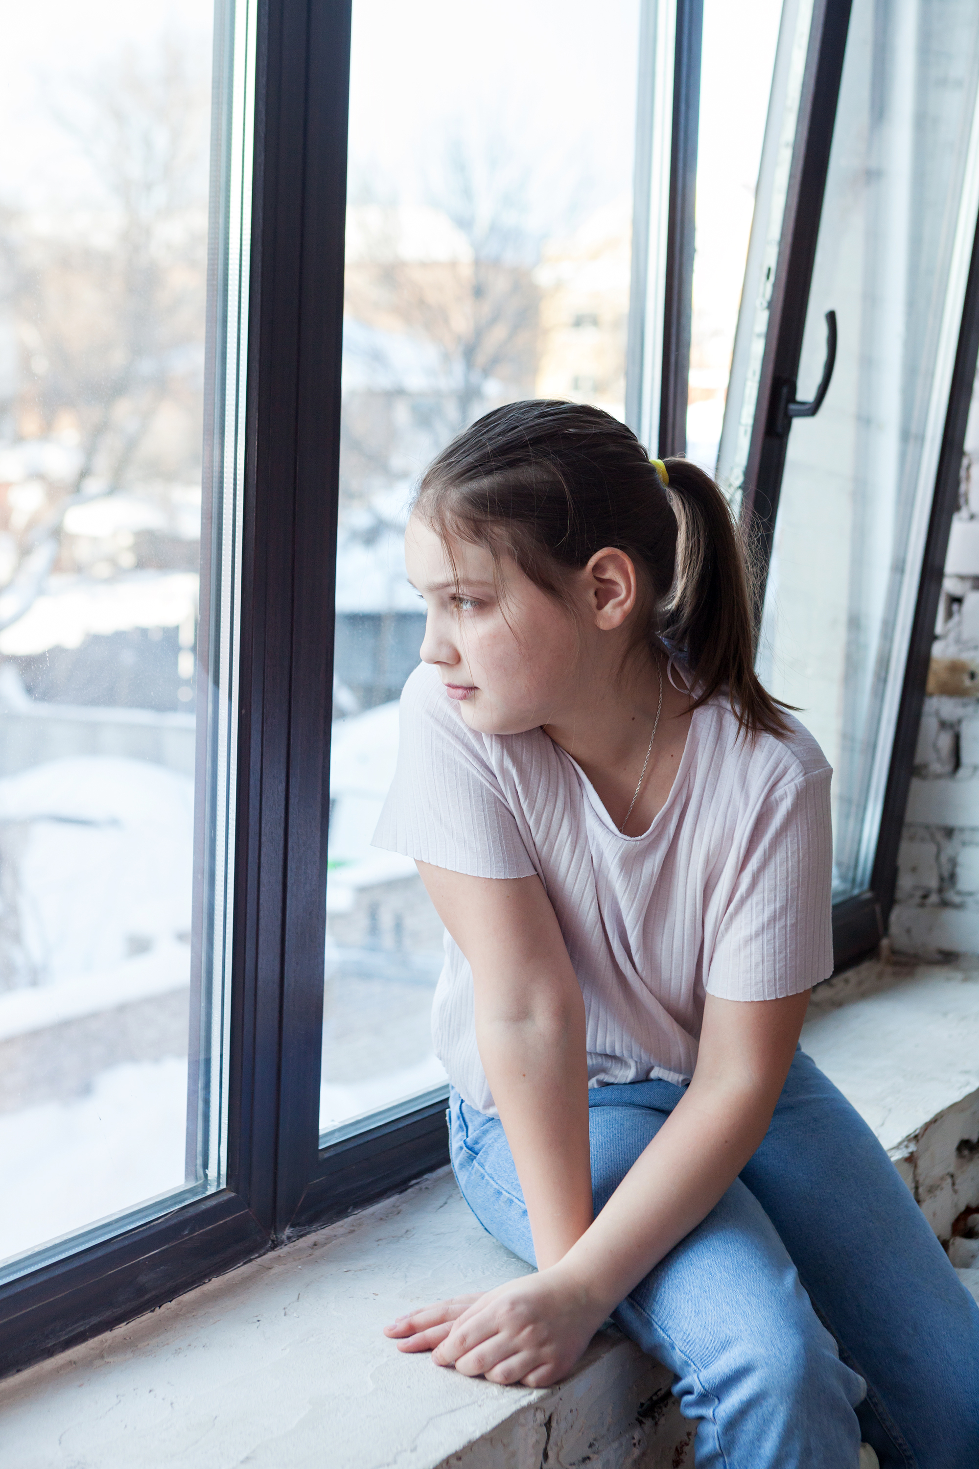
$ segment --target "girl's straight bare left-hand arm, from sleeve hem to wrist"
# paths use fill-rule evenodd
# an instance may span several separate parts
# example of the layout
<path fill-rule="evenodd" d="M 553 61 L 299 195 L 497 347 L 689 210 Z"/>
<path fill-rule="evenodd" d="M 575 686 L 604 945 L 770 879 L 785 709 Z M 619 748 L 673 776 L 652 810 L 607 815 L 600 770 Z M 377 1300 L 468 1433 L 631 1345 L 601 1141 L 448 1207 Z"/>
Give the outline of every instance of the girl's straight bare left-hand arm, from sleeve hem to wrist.
<path fill-rule="evenodd" d="M 539 877 L 418 871 L 473 970 L 480 1059 L 545 1269 L 592 1224 L 581 989 Z"/>

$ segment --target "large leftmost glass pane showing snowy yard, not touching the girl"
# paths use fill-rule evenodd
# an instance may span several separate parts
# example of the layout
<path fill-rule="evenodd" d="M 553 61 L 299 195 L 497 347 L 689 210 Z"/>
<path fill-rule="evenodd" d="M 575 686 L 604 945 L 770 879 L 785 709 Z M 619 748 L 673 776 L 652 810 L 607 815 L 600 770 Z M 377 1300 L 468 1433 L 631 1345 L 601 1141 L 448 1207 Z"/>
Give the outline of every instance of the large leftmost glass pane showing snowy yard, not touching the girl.
<path fill-rule="evenodd" d="M 223 1183 L 252 24 L 0 4 L 4 1274 Z"/>

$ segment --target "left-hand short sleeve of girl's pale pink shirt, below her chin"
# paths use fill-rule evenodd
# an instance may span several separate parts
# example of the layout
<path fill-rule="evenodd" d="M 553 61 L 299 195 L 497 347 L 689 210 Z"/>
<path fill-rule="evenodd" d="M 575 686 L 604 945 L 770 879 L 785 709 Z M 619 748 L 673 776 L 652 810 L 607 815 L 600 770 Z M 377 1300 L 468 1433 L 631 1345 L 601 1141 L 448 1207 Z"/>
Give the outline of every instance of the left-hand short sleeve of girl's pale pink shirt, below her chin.
<path fill-rule="evenodd" d="M 398 765 L 373 846 L 468 877 L 537 871 L 496 779 L 487 743 L 424 664 L 401 696 Z"/>

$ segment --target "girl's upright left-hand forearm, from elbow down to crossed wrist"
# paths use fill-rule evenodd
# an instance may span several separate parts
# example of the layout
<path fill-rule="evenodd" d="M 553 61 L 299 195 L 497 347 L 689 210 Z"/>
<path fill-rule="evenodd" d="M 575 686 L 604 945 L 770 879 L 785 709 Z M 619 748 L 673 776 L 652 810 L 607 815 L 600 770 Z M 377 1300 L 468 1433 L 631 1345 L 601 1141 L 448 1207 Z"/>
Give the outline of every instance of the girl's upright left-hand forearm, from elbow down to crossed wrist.
<path fill-rule="evenodd" d="M 477 1040 L 546 1269 L 593 1218 L 584 1005 L 546 1019 L 477 1017 Z"/>

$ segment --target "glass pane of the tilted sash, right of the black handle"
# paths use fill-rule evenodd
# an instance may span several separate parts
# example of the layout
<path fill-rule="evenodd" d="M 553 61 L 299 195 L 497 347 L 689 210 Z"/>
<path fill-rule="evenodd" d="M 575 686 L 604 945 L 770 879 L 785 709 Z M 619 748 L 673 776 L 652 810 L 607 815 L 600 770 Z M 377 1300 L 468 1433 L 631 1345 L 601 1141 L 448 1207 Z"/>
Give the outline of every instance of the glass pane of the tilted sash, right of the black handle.
<path fill-rule="evenodd" d="M 970 0 L 856 0 L 816 250 L 760 671 L 834 765 L 837 896 L 866 886 L 975 231 Z"/>

